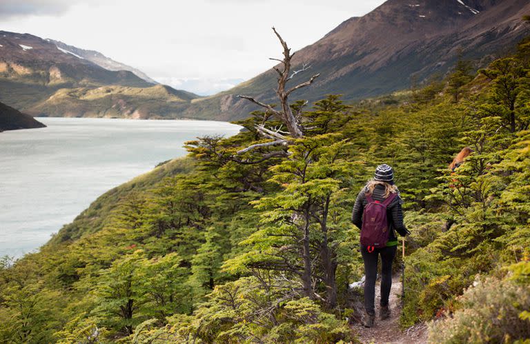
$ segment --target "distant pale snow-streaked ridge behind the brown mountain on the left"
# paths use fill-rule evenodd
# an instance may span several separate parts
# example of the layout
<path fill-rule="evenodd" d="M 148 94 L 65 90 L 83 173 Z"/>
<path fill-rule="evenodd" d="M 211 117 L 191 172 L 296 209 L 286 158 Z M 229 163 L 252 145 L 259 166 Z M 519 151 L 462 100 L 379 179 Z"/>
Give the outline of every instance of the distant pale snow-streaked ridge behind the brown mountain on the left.
<path fill-rule="evenodd" d="M 130 72 L 133 72 L 133 74 L 135 74 L 137 77 L 144 79 L 148 83 L 157 84 L 157 81 L 148 77 L 147 74 L 142 72 L 141 70 L 131 67 L 130 65 L 126 65 L 124 63 L 114 61 L 113 59 L 106 57 L 104 54 L 101 54 L 101 52 L 97 52 L 95 50 L 84 50 L 81 48 L 77 48 L 73 45 L 68 45 L 61 41 L 55 41 L 53 39 L 47 39 L 47 41 L 55 43 L 55 45 L 57 45 L 57 48 L 59 48 L 59 50 L 63 52 L 72 54 L 77 57 L 81 57 L 82 59 L 86 59 L 90 62 L 93 62 L 99 65 L 102 68 L 105 68 L 106 70 L 114 70 L 114 71 L 128 70 Z"/>

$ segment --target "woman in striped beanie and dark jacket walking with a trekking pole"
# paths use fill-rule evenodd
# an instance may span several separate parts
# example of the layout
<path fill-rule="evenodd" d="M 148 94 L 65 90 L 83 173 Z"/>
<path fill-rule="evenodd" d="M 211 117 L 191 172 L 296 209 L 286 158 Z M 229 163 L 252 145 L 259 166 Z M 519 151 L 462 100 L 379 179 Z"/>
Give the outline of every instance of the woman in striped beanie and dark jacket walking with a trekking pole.
<path fill-rule="evenodd" d="M 410 234 L 403 223 L 402 200 L 394 185 L 393 169 L 386 164 L 375 169 L 375 175 L 357 196 L 352 221 L 361 230 L 361 254 L 364 261 L 364 319 L 366 327 L 375 321 L 375 279 L 377 260 L 381 255 L 380 319 L 390 316 L 389 296 L 392 286 L 392 261 L 397 251 L 397 236 Z M 369 217 L 367 217 L 369 216 Z"/>

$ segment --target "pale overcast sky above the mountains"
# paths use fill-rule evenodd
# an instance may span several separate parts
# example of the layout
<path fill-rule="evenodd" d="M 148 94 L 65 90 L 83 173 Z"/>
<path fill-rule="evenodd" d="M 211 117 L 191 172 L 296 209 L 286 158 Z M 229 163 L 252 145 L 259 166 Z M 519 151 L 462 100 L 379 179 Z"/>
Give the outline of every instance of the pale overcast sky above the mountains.
<path fill-rule="evenodd" d="M 181 90 L 214 94 L 384 0 L 0 0 L 0 30 L 97 50 Z"/>

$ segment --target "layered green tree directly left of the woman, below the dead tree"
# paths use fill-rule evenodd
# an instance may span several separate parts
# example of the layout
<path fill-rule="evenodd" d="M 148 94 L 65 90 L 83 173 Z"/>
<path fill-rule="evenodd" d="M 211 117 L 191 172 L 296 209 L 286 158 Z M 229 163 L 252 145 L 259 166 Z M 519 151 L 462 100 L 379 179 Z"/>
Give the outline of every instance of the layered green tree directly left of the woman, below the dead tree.
<path fill-rule="evenodd" d="M 302 283 L 302 294 L 309 299 L 315 299 L 322 283 L 324 299 L 335 307 L 336 248 L 346 241 L 347 225 L 342 216 L 328 216 L 347 211 L 337 195 L 355 172 L 355 165 L 343 160 L 346 143 L 340 139 L 337 134 L 297 139 L 289 159 L 271 168 L 270 181 L 282 190 L 253 202 L 262 211 L 262 227 L 242 241 L 251 245 L 250 251 L 226 261 L 228 272 L 283 272 L 293 283 Z"/>

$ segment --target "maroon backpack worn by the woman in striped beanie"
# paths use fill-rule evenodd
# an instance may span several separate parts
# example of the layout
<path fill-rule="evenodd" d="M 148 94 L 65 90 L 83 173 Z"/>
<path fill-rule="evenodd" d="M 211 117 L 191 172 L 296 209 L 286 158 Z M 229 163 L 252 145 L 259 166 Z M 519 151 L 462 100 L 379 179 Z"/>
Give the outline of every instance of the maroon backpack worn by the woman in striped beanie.
<path fill-rule="evenodd" d="M 385 247 L 389 241 L 389 221 L 386 219 L 386 207 L 395 198 L 390 194 L 382 202 L 374 201 L 370 194 L 366 194 L 368 204 L 362 213 L 361 245 L 367 247 L 368 252 L 375 248 Z"/>

